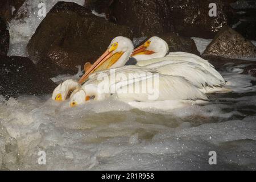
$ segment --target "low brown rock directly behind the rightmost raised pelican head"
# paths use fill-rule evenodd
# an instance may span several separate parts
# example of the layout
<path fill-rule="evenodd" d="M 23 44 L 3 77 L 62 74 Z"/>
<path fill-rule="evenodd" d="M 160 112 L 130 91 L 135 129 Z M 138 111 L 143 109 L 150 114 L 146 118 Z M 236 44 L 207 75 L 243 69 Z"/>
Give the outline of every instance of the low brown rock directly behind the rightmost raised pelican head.
<path fill-rule="evenodd" d="M 170 52 L 189 52 L 196 55 L 200 55 L 200 52 L 196 48 L 195 42 L 191 38 L 178 36 L 174 32 L 160 36 L 169 45 Z"/>

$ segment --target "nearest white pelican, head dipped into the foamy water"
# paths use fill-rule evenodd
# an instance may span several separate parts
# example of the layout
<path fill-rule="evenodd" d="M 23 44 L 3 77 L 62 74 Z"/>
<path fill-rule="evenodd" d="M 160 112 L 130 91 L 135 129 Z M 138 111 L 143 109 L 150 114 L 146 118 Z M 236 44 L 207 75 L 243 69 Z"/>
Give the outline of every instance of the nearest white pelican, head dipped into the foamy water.
<path fill-rule="evenodd" d="M 141 71 L 139 68 L 133 67 L 133 69 L 126 69 L 117 71 L 123 75 L 128 75 L 131 72 L 137 73 Z M 159 75 L 156 77 L 155 71 L 148 69 L 145 73 L 152 73 L 152 76 L 141 76 L 131 80 L 115 80 L 113 84 L 109 84 L 109 90 L 114 88 L 114 92 L 105 92 L 105 88 L 102 89 L 99 86 L 100 81 L 93 79 L 93 81 L 86 82 L 82 87 L 74 93 L 70 99 L 69 105 L 71 107 L 85 104 L 86 101 L 96 100 L 102 101 L 106 98 L 113 97 L 115 100 L 121 100 L 125 102 L 147 102 L 147 101 L 181 101 L 192 103 L 196 100 L 207 100 L 207 96 L 201 92 L 196 86 L 192 85 L 184 77 Z M 108 77 L 109 75 L 106 75 Z M 157 81 L 155 80 L 157 79 Z M 153 92 L 143 92 L 143 88 L 148 88 L 148 82 L 152 83 Z M 156 83 L 157 82 L 157 83 Z M 129 92 L 132 88 L 133 92 Z M 135 92 L 138 90 L 139 92 Z M 151 90 L 152 91 L 152 90 Z M 155 97 L 156 96 L 156 97 Z M 134 102 L 132 102 L 134 104 Z M 177 104 L 178 102 L 176 102 Z"/>

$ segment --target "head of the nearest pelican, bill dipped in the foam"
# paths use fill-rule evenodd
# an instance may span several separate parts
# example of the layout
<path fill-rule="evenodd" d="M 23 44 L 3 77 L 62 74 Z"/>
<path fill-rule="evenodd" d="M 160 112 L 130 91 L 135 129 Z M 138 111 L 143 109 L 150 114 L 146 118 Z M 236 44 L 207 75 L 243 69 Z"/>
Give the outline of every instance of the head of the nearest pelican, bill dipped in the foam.
<path fill-rule="evenodd" d="M 69 106 L 75 107 L 78 105 L 85 104 L 87 101 L 95 100 L 102 101 L 105 100 L 110 94 L 101 93 L 98 90 L 97 85 L 89 84 L 83 85 L 82 88 L 77 90 L 74 94 L 72 94 Z"/>

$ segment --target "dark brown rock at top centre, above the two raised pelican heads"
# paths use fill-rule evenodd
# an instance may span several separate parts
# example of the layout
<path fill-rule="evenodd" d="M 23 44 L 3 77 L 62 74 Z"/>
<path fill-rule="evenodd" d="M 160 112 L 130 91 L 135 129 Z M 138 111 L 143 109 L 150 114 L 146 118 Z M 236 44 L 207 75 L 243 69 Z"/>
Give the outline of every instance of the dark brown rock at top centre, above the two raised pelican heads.
<path fill-rule="evenodd" d="M 166 0 L 115 0 L 110 6 L 111 20 L 133 28 L 136 36 L 155 35 L 173 30 L 170 6 Z"/>

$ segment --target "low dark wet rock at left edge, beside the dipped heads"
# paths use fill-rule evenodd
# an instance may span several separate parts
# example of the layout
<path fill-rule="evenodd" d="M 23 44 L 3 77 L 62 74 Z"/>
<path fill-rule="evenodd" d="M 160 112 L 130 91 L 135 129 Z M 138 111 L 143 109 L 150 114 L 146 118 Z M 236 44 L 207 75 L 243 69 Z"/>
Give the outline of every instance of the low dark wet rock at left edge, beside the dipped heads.
<path fill-rule="evenodd" d="M 0 55 L 0 94 L 18 97 L 20 94 L 40 95 L 52 93 L 56 85 L 41 75 L 27 57 Z"/>

